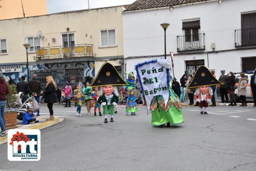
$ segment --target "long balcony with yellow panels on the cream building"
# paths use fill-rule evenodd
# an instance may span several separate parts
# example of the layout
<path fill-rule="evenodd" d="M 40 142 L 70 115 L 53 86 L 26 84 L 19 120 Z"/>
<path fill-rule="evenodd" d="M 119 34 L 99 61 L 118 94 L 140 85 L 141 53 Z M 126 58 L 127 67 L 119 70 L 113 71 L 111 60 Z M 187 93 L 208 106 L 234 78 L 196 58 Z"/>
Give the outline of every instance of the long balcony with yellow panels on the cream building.
<path fill-rule="evenodd" d="M 35 61 L 56 59 L 74 59 L 84 57 L 95 57 L 92 44 L 76 44 L 71 46 L 51 46 L 37 48 Z"/>

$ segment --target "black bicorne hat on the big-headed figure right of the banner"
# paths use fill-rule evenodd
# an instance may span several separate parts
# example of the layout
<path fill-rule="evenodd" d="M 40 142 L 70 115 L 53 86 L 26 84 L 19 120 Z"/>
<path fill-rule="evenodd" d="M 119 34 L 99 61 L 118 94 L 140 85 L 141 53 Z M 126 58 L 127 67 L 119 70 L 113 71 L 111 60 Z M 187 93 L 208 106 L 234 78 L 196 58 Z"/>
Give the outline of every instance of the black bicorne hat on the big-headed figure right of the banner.
<path fill-rule="evenodd" d="M 202 87 L 202 86 L 211 86 L 223 84 L 221 81 L 218 81 L 212 75 L 212 72 L 209 71 L 204 65 L 200 66 L 196 72 L 192 81 L 190 81 L 187 88 Z"/>

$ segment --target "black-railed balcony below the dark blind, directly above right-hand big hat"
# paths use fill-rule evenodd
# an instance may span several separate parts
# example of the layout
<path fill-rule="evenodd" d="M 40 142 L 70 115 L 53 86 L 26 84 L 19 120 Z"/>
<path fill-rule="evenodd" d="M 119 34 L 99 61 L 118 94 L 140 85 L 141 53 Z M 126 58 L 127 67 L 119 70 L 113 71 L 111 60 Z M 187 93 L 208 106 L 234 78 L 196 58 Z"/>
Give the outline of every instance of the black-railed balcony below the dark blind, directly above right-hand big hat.
<path fill-rule="evenodd" d="M 177 36 L 177 52 L 205 50 L 204 33 Z"/>

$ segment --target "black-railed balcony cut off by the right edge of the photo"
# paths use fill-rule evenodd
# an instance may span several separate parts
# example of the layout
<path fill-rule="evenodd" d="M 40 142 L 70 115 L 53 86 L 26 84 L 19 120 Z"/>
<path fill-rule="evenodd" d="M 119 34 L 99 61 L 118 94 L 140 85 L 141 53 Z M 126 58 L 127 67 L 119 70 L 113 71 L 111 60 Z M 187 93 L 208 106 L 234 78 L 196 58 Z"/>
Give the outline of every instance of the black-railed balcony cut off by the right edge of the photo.
<path fill-rule="evenodd" d="M 235 30 L 235 47 L 256 46 L 256 28 Z"/>

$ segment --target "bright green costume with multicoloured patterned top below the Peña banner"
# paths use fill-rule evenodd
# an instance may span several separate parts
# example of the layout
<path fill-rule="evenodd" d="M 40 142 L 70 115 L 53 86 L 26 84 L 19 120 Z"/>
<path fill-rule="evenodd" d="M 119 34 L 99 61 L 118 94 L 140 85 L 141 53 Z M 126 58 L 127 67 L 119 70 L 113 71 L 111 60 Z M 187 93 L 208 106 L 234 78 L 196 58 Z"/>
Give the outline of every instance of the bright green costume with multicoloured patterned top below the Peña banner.
<path fill-rule="evenodd" d="M 152 112 L 151 123 L 153 126 L 164 125 L 167 123 L 175 125 L 183 123 L 183 116 L 181 111 L 181 103 L 179 97 L 172 90 L 172 81 L 170 81 L 169 87 L 169 100 L 165 106 L 163 96 L 154 96 L 150 104 L 150 110 Z"/>

